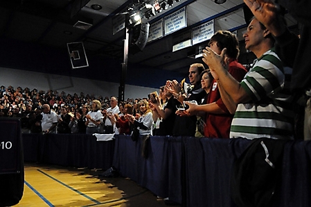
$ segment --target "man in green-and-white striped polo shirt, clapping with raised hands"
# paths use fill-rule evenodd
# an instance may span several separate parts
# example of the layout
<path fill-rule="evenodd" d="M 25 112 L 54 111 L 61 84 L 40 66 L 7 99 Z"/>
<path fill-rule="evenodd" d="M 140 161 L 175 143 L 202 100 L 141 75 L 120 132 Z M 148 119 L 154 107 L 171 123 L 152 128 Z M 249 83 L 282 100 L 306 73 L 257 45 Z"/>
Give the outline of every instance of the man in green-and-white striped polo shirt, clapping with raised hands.
<path fill-rule="evenodd" d="M 285 84 L 292 70 L 283 68 L 272 34 L 257 19 L 252 19 L 243 37 L 246 49 L 257 59 L 240 83 L 226 71 L 226 49 L 219 56 L 206 47 L 203 54 L 224 104 L 234 113 L 230 137 L 292 139 L 292 96 Z"/>

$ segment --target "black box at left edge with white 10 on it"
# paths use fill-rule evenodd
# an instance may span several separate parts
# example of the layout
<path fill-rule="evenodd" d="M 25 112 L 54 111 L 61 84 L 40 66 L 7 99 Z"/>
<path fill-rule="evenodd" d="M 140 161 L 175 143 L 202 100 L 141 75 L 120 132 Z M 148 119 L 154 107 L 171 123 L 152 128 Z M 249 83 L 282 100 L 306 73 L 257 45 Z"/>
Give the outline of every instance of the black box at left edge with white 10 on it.
<path fill-rule="evenodd" d="M 0 159 L 0 206 L 14 206 L 24 192 L 20 119 L 0 117 Z"/>

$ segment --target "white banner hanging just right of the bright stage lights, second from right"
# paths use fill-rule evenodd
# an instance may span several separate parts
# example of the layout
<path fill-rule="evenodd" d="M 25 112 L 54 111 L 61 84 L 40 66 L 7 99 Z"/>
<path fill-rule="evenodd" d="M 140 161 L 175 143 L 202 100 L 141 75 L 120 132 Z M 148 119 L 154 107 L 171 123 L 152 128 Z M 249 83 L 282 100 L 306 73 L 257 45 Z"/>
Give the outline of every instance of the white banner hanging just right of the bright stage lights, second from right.
<path fill-rule="evenodd" d="M 168 35 L 181 28 L 185 28 L 186 22 L 186 7 L 181 8 L 175 13 L 164 17 L 164 35 Z"/>

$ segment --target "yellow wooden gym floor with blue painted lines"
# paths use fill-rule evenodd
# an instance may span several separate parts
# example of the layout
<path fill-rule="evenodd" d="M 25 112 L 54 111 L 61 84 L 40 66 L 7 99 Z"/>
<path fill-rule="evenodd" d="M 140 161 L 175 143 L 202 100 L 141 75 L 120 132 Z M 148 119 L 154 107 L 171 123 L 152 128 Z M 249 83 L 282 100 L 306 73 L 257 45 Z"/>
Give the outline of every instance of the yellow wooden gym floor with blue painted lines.
<path fill-rule="evenodd" d="M 24 195 L 15 206 L 166 206 L 123 177 L 99 179 L 96 170 L 25 164 Z"/>

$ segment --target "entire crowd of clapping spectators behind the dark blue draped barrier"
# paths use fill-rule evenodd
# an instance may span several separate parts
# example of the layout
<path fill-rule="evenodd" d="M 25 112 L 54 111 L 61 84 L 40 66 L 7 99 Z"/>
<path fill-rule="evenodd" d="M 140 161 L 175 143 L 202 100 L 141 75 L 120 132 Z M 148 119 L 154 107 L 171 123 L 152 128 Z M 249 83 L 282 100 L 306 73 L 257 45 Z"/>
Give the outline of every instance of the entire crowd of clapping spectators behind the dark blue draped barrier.
<path fill-rule="evenodd" d="M 298 46 L 299 38 L 288 31 L 274 2 L 245 3 L 254 13 L 243 35 L 246 49 L 256 56 L 249 70 L 238 63 L 236 35 L 217 31 L 203 51 L 208 69 L 202 63 L 190 65 L 190 83 L 168 80 L 159 95 L 127 101 L 2 85 L 0 116 L 21 118 L 22 129 L 30 133 L 303 137 L 296 124 L 302 117 L 297 99 L 305 97 L 305 112 L 310 113 L 310 82 L 303 82 L 303 88 L 296 84 L 300 71 L 294 65 L 296 56 L 288 60 L 286 44 L 288 40 Z M 305 139 L 311 134 L 308 120 L 307 116 Z"/>

